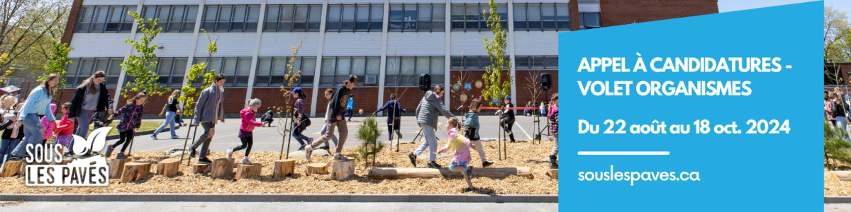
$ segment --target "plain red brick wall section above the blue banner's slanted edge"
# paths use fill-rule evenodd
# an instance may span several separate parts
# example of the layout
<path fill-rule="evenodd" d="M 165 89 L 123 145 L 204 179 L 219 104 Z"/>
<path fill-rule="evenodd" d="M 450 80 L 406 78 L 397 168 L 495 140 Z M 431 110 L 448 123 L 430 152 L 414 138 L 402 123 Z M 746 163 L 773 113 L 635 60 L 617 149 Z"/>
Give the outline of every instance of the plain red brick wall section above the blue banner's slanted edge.
<path fill-rule="evenodd" d="M 717 0 L 600 0 L 603 26 L 717 14 Z"/>

